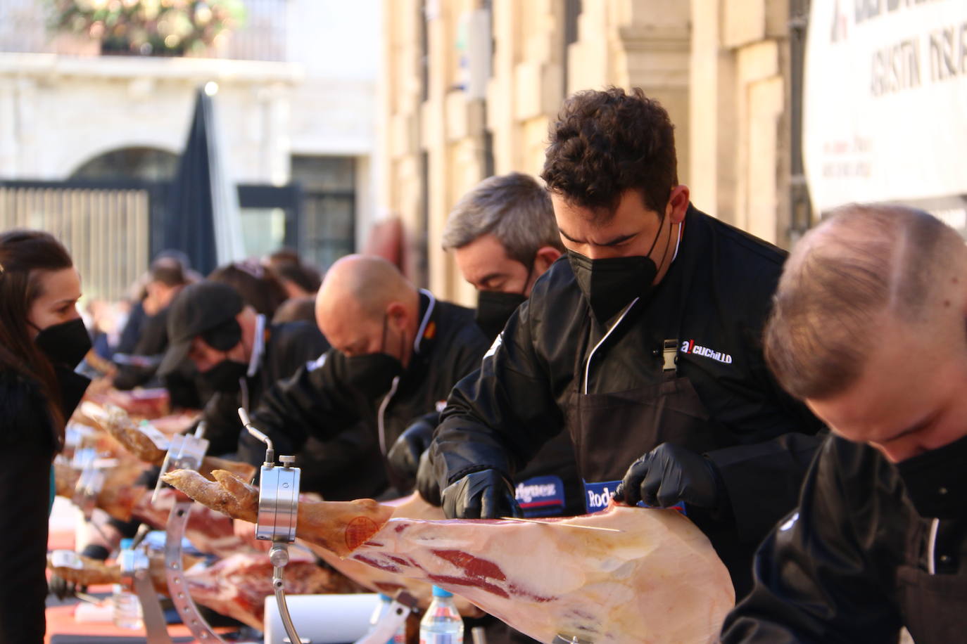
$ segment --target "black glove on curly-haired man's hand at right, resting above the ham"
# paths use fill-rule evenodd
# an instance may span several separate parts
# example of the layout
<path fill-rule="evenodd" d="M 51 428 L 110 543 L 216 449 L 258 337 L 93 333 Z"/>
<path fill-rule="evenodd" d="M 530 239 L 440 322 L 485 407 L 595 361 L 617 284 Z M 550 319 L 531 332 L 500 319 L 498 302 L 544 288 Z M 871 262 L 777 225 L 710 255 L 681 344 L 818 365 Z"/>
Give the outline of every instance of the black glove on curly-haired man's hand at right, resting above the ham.
<path fill-rule="evenodd" d="M 725 491 L 716 466 L 691 450 L 661 443 L 631 463 L 625 480 L 614 492 L 614 499 L 636 505 L 668 508 L 680 501 L 715 513 L 722 505 Z"/>

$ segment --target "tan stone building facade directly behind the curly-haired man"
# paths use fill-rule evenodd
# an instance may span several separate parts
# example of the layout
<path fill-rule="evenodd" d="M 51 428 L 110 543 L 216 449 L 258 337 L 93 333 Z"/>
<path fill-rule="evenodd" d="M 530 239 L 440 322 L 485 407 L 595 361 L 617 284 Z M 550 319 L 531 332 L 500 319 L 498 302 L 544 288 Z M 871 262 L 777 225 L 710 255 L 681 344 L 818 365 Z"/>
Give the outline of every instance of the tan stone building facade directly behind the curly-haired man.
<path fill-rule="evenodd" d="M 472 302 L 440 250 L 449 210 L 489 174 L 539 174 L 562 99 L 607 85 L 668 109 L 696 207 L 788 245 L 790 23 L 803 4 L 385 0 L 377 199 L 404 222 L 411 270 Z"/>

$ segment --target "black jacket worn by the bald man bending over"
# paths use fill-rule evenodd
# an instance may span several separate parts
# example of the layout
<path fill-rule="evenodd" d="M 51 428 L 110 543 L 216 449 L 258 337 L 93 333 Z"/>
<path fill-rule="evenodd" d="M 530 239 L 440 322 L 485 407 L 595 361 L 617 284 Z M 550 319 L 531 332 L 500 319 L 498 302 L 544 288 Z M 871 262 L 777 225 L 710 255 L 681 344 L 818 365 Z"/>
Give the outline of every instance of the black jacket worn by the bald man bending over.
<path fill-rule="evenodd" d="M 251 417 L 255 427 L 272 438 L 276 453 L 299 452 L 309 436 L 325 441 L 358 428 L 377 440 L 391 483 L 400 492 L 408 491 L 401 489 L 405 486 L 385 461 L 389 448 L 418 416 L 443 406 L 456 381 L 480 365 L 487 346 L 471 309 L 421 290 L 420 313 L 410 363 L 389 392 L 369 399 L 344 384 L 346 357 L 337 350 L 328 350 L 266 392 Z M 260 463 L 265 448 L 243 434 L 239 455 Z M 347 476 L 362 474 L 352 469 Z"/>

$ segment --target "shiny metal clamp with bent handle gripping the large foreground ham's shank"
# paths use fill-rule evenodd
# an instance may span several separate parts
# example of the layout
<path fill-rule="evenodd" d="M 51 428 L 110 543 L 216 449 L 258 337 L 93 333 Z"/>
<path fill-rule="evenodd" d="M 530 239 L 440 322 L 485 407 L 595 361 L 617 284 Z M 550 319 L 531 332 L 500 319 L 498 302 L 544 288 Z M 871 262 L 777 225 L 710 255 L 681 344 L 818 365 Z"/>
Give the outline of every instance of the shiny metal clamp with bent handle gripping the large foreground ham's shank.
<path fill-rule="evenodd" d="M 265 443 L 265 462 L 259 478 L 258 518 L 255 522 L 255 538 L 271 541 L 269 560 L 272 562 L 272 588 L 278 602 L 278 615 L 290 642 L 302 642 L 292 624 L 289 607 L 285 602 L 285 582 L 282 572 L 289 563 L 289 544 L 296 540 L 296 519 L 299 518 L 299 479 L 302 470 L 293 467 L 294 456 L 280 456 L 276 465 L 276 450 L 269 436 L 256 430 L 244 407 L 239 407 L 239 418 L 249 434 Z"/>

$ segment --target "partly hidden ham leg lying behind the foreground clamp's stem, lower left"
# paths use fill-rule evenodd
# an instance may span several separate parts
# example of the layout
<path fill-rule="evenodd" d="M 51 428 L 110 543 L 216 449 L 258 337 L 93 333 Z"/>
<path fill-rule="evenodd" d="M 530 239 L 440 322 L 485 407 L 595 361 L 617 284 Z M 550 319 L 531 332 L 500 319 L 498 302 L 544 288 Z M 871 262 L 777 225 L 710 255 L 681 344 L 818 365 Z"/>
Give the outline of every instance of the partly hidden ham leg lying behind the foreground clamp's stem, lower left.
<path fill-rule="evenodd" d="M 105 564 L 87 557 L 80 559 L 83 564 L 80 569 L 54 567 L 50 562 L 47 566 L 53 573 L 78 585 L 122 582 L 120 565 Z M 273 568 L 269 555 L 265 552 L 234 554 L 211 566 L 196 561 L 189 557 L 184 560 L 185 579 L 191 599 L 254 629 L 265 630 L 265 598 L 273 594 Z M 167 595 L 164 557 L 160 552 L 151 553 L 148 571 L 155 590 Z M 284 580 L 285 592 L 292 595 L 351 593 L 357 590 L 344 576 L 320 568 L 308 556 L 301 556 L 297 549 L 291 550 Z"/>

